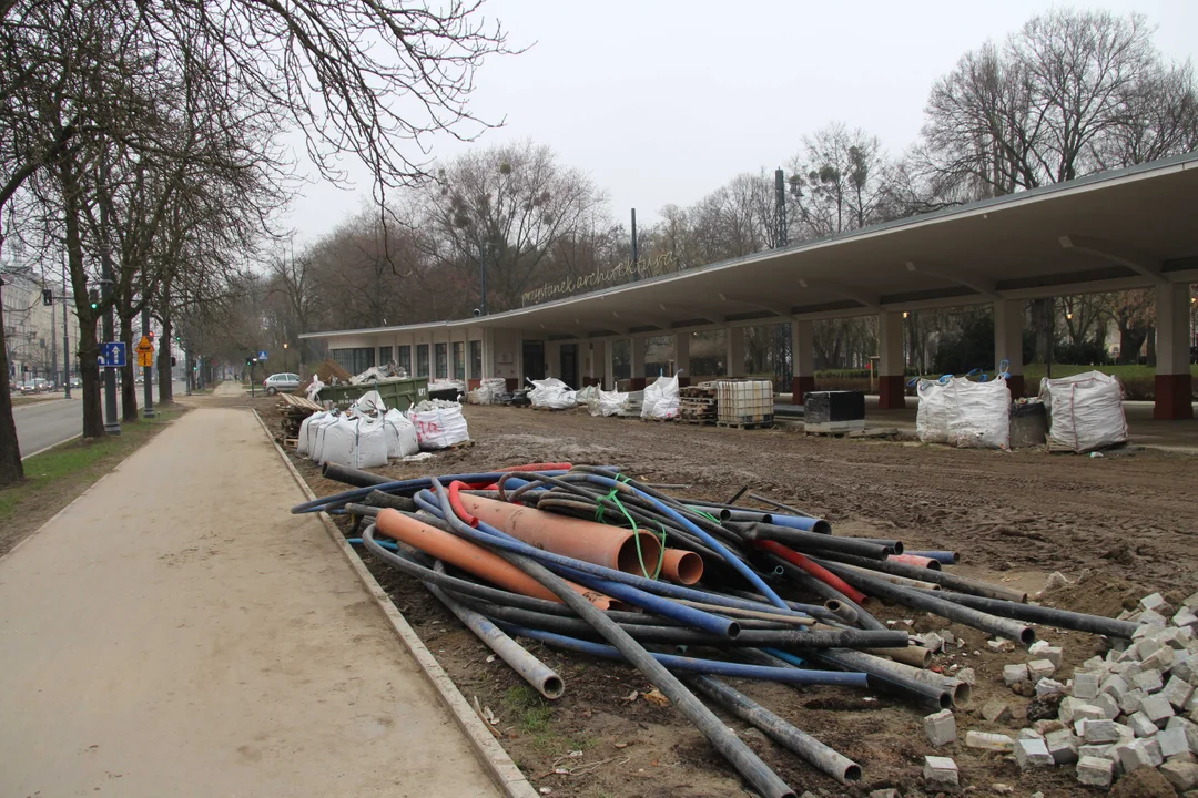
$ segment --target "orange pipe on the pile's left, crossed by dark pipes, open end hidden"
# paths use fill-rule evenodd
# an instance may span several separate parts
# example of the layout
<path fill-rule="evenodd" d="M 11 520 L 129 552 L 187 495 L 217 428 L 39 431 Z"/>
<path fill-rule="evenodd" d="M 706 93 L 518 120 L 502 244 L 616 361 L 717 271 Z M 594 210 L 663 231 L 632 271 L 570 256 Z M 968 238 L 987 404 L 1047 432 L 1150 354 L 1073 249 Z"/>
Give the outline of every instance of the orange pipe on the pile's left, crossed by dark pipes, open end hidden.
<path fill-rule="evenodd" d="M 456 535 L 442 531 L 436 526 L 429 526 L 411 516 L 405 516 L 398 510 L 392 510 L 391 507 L 380 510 L 379 517 L 375 518 L 375 529 L 387 537 L 407 543 L 430 556 L 443 560 L 476 577 L 482 577 L 491 584 L 510 590 L 514 593 L 545 598 L 551 602 L 562 601 L 551 590 L 500 555 L 488 552 L 470 541 L 464 541 Z M 575 592 L 599 609 L 611 609 L 613 603 L 611 597 L 574 584 L 573 581 L 568 584 Z"/>

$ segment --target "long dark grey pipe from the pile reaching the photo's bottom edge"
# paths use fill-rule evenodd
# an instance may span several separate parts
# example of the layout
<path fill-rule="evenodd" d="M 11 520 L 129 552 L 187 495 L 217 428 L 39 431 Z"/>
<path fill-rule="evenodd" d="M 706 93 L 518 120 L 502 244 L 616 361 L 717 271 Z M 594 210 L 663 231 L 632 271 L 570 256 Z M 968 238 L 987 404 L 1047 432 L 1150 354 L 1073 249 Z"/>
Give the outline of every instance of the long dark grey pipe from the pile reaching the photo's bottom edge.
<path fill-rule="evenodd" d="M 460 526 L 461 529 L 458 531 L 466 535 L 470 530 L 454 514 L 453 507 L 449 505 L 449 493 L 436 479 L 432 480 L 432 487 L 441 500 L 441 510 L 446 516 L 446 520 L 453 524 L 455 529 Z M 603 635 L 607 642 L 615 646 L 629 663 L 645 674 L 649 682 L 673 702 L 674 707 L 688 720 L 695 724 L 715 750 L 724 755 L 757 792 L 766 796 L 766 798 L 794 798 L 794 791 L 776 773 L 770 770 L 752 753 L 752 749 L 745 745 L 744 741 L 737 737 L 714 712 L 703 706 L 703 702 L 696 699 L 677 676 L 666 670 L 665 665 L 654 659 L 643 646 L 633 640 L 627 632 L 609 620 L 606 615 L 595 609 L 591 602 L 574 592 L 564 579 L 531 558 L 512 554 L 501 548 L 492 548 L 491 550 L 545 585 L 545 587 L 552 591 L 553 595 L 561 598 Z"/>

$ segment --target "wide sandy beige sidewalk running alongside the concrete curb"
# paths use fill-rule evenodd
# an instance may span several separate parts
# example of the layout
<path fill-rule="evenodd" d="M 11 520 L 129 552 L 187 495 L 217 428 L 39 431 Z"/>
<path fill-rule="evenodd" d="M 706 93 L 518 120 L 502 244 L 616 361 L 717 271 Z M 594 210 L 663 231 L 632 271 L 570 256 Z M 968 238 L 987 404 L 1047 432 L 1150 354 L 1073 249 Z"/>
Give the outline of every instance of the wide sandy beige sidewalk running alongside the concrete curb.
<path fill-rule="evenodd" d="M 302 499 L 196 409 L 0 560 L 0 796 L 498 794 Z"/>

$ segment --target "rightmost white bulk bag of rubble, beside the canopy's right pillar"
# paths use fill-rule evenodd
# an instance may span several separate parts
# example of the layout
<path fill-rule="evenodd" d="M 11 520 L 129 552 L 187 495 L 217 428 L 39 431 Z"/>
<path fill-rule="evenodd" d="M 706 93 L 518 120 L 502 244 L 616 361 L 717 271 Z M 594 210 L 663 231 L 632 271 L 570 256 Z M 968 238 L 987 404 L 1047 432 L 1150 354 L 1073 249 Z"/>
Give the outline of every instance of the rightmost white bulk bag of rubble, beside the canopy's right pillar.
<path fill-rule="evenodd" d="M 1127 440 L 1123 386 L 1100 371 L 1040 380 L 1048 410 L 1048 450 L 1087 452 Z"/>

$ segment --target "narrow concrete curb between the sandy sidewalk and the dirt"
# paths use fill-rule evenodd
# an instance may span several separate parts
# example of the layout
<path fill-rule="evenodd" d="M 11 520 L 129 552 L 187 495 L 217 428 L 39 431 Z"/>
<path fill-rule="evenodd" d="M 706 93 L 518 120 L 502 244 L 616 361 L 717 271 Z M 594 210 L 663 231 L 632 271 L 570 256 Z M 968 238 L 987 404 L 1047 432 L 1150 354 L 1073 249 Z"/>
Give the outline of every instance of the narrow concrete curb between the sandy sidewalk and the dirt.
<path fill-rule="evenodd" d="M 291 458 L 288 453 L 283 451 L 283 447 L 274 441 L 274 437 L 271 431 L 266 428 L 266 422 L 262 421 L 262 416 L 254 410 L 254 418 L 258 419 L 259 426 L 262 427 L 262 433 L 266 439 L 271 441 L 274 446 L 274 451 L 278 452 L 279 459 L 286 467 L 288 471 L 291 474 L 291 479 L 296 481 L 300 489 L 303 492 L 308 500 L 315 499 L 316 494 L 311 492 L 308 487 L 308 482 L 303 479 L 303 475 L 296 470 L 296 467 L 291 463 Z M 508 798 L 539 798 L 537 791 L 525 778 L 516 763 L 512 761 L 508 753 L 503 750 L 503 747 L 495 739 L 491 732 L 483 725 L 483 720 L 474 713 L 470 703 L 466 701 L 466 696 L 461 694 L 458 686 L 454 684 L 453 680 L 437 662 L 432 652 L 429 651 L 424 641 L 416 634 L 407 620 L 403 614 L 395 609 L 392 603 L 391 597 L 387 591 L 375 580 L 374 574 L 367 568 L 362 558 L 358 553 L 353 550 L 353 547 L 345 542 L 345 536 L 341 535 L 337 525 L 333 524 L 333 519 L 328 517 L 328 513 L 320 512 L 321 523 L 325 525 L 325 531 L 340 549 L 341 555 L 353 568 L 353 573 L 357 574 L 358 580 L 370 593 L 374 599 L 375 605 L 391 623 L 392 629 L 395 632 L 395 636 L 400 639 L 407 651 L 416 659 L 424 676 L 432 684 L 434 689 L 441 696 L 449 713 L 453 715 L 458 726 L 466 733 L 466 738 L 470 744 L 474 748 L 474 754 L 486 767 L 495 784 L 503 791 Z"/>

